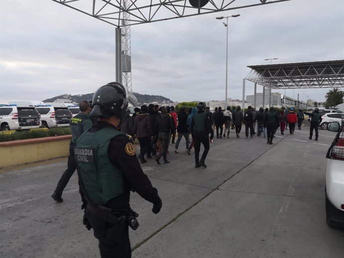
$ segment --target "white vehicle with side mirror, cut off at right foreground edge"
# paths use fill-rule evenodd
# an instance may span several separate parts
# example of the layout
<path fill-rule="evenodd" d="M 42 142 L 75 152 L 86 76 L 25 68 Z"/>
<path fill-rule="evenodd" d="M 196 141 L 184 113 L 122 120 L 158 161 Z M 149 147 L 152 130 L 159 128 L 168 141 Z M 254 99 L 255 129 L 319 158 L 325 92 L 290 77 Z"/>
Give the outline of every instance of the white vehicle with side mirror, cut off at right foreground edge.
<path fill-rule="evenodd" d="M 328 130 L 338 133 L 326 155 L 326 222 L 344 228 L 344 127 L 329 123 Z"/>

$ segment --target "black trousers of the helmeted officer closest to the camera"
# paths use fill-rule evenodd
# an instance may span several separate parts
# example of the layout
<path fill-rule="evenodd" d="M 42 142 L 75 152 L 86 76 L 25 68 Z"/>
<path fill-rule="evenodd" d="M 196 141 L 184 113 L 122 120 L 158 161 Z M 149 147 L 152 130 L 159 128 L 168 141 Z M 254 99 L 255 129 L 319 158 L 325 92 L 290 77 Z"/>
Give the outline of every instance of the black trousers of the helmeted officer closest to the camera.
<path fill-rule="evenodd" d="M 120 243 L 106 243 L 108 224 L 99 220 L 93 213 L 86 210 L 86 217 L 93 228 L 93 234 L 99 241 L 99 251 L 101 258 L 131 258 L 132 251 L 129 240 L 128 225 L 124 226 L 122 241 Z"/>

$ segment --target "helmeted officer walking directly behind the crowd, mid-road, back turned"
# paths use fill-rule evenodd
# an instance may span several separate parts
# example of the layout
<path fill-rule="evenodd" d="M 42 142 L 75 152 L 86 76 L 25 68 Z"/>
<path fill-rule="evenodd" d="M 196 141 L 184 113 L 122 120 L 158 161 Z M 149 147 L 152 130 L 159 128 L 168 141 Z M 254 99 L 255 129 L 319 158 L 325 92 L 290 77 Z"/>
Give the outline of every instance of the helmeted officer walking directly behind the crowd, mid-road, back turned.
<path fill-rule="evenodd" d="M 204 160 L 209 151 L 209 133 L 210 139 L 214 137 L 214 131 L 211 128 L 210 117 L 205 113 L 205 103 L 199 102 L 197 105 L 197 114 L 192 117 L 190 133 L 194 139 L 195 148 L 195 167 L 206 167 Z M 203 143 L 204 151 L 199 160 L 200 143 Z"/>

